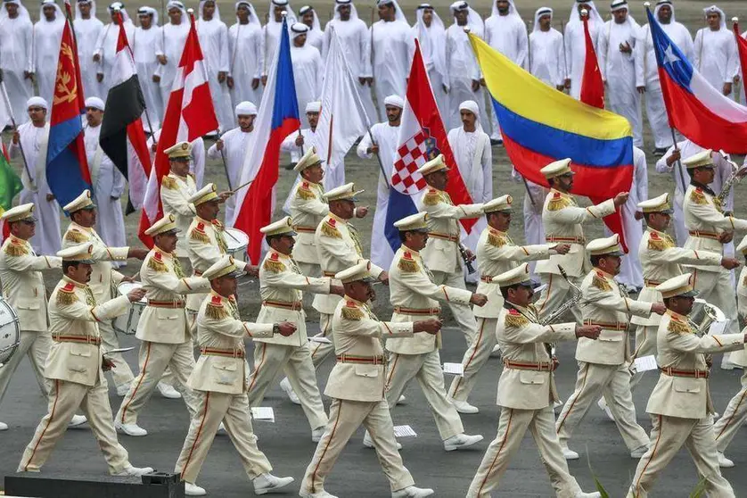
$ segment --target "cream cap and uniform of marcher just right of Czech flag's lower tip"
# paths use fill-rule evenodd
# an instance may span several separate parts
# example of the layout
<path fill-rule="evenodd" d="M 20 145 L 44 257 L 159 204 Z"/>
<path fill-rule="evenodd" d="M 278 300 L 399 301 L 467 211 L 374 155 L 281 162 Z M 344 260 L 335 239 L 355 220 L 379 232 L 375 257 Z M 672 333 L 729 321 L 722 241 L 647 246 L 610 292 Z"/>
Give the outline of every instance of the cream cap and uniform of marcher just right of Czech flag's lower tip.
<path fill-rule="evenodd" d="M 260 231 L 265 237 L 295 235 L 288 216 L 260 228 Z M 330 285 L 330 278 L 306 277 L 291 256 L 278 253 L 272 248 L 267 251 L 259 269 L 262 308 L 257 322 L 290 321 L 296 326 L 296 331 L 288 337 L 260 337 L 256 340 L 254 371 L 249 379 L 249 403 L 251 406 L 259 406 L 265 398 L 267 387 L 285 371 L 313 431 L 326 425 L 327 415 L 324 413 L 319 387 L 316 386 L 316 372 L 308 347 L 302 291 L 328 295 Z"/>

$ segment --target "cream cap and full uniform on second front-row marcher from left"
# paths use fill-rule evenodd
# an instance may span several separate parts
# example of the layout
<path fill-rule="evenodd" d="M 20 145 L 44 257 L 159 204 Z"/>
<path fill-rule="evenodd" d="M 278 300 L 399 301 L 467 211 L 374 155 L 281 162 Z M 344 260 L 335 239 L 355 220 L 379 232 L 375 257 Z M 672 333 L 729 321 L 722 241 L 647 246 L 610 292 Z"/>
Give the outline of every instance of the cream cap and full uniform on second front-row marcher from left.
<path fill-rule="evenodd" d="M 235 263 L 234 258 L 222 256 L 203 275 L 209 280 L 235 278 L 243 274 Z M 225 297 L 211 290 L 201 303 L 197 315 L 200 359 L 189 377 L 199 410 L 190 423 L 174 469 L 186 483 L 194 486 L 222 421 L 251 480 L 272 470 L 265 453 L 257 447 L 251 427 L 244 338 L 271 337 L 274 330 L 273 324 L 242 321 L 233 295 Z M 290 484 L 293 479 L 286 477 L 285 481 Z"/>

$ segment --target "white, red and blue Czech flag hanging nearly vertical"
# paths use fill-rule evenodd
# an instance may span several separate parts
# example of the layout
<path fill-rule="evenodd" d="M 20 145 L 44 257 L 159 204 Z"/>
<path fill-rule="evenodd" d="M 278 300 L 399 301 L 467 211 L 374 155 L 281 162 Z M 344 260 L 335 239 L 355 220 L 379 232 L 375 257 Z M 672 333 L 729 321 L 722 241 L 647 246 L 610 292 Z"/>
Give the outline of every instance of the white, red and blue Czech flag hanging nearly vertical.
<path fill-rule="evenodd" d="M 238 228 L 249 236 L 249 257 L 259 263 L 262 251 L 262 234 L 259 228 L 269 224 L 273 212 L 273 188 L 280 167 L 280 144 L 285 137 L 300 128 L 299 101 L 293 80 L 291 38 L 287 21 L 283 18 L 280 30 L 280 48 L 267 78 L 267 87 L 259 104 L 254 133 L 246 147 L 242 177 L 237 188 L 234 220 L 229 226 Z M 249 187 L 243 187 L 250 183 Z"/>

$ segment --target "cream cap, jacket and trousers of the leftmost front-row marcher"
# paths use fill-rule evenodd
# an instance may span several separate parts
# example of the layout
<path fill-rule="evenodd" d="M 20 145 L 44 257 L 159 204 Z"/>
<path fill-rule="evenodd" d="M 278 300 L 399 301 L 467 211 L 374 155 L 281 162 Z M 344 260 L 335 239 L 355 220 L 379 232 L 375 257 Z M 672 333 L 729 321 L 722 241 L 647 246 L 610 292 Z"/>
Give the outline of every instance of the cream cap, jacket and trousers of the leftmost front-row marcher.
<path fill-rule="evenodd" d="M 94 245 L 62 249 L 62 261 L 93 263 Z M 65 434 L 78 407 L 103 452 L 109 472 L 118 475 L 131 469 L 127 450 L 117 441 L 111 421 L 111 407 L 102 371 L 101 335 L 103 320 L 111 320 L 129 309 L 126 295 L 97 304 L 92 289 L 68 277 L 55 286 L 49 298 L 49 332 L 53 344 L 46 360 L 45 376 L 52 381 L 49 411 L 39 422 L 18 466 L 19 472 L 38 472 L 54 445 Z M 152 469 L 149 469 L 152 470 Z"/>

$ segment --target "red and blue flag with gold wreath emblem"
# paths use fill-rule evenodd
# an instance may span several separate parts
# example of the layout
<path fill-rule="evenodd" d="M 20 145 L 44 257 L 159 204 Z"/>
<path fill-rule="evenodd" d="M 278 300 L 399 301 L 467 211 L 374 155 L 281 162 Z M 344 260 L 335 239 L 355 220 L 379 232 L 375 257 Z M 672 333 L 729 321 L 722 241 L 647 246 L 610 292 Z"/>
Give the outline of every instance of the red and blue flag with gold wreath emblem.
<path fill-rule="evenodd" d="M 46 150 L 46 180 L 61 206 L 73 201 L 92 185 L 83 141 L 82 117 L 85 114 L 86 99 L 80 79 L 78 47 L 70 22 L 65 21 Z"/>

